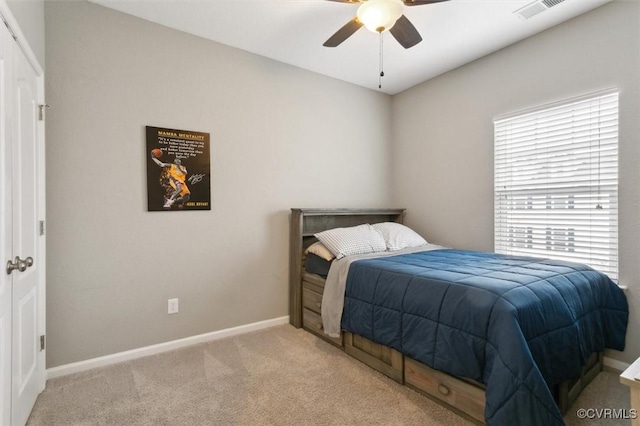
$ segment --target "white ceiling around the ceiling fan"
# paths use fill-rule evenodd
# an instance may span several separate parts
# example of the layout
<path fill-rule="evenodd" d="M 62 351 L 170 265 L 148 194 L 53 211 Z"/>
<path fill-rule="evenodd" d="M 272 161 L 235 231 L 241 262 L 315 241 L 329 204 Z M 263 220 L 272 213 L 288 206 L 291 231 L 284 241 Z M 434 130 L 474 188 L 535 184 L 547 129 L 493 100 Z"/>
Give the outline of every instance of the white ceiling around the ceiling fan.
<path fill-rule="evenodd" d="M 395 94 L 611 0 L 564 0 L 524 19 L 541 0 L 450 0 L 404 7 L 423 41 L 402 48 L 384 34 L 378 89 L 378 34 L 362 27 L 335 48 L 323 47 L 355 17 L 358 5 L 327 0 L 90 0 L 170 28 Z M 552 0 L 553 3 L 554 0 Z M 557 1 L 557 0 L 556 0 Z"/>

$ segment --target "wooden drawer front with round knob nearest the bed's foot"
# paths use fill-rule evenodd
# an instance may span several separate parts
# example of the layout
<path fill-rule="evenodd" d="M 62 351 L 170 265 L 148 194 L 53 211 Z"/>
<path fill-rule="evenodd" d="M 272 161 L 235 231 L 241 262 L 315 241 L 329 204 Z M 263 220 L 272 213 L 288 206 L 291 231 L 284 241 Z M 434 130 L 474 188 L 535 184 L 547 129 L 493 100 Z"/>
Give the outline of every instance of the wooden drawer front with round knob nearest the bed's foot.
<path fill-rule="evenodd" d="M 405 357 L 404 380 L 412 387 L 484 423 L 484 390 Z"/>

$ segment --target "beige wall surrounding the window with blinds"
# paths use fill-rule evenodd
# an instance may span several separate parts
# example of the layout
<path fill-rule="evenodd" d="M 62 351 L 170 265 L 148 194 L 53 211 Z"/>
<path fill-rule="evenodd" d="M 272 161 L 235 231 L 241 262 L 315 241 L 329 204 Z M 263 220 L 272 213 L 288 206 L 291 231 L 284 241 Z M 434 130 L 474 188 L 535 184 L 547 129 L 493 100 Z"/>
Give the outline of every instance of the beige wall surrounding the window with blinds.
<path fill-rule="evenodd" d="M 392 100 L 394 204 L 432 242 L 493 250 L 493 118 L 620 90 L 620 283 L 625 362 L 640 356 L 640 4 L 614 1 Z M 415 119 L 420 117 L 420 119 Z"/>

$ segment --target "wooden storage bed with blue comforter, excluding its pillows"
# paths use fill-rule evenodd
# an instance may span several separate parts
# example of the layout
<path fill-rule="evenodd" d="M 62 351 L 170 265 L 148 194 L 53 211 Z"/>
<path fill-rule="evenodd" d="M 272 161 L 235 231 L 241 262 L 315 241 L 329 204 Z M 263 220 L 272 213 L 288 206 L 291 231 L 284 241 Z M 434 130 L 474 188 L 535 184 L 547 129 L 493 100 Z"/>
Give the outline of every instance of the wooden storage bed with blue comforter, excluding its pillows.
<path fill-rule="evenodd" d="M 305 271 L 314 235 L 404 213 L 292 209 L 291 323 L 476 423 L 563 424 L 604 348 L 624 347 L 626 299 L 583 265 L 441 247 L 349 256 L 339 328 L 325 330 L 338 262 L 329 280 Z"/>

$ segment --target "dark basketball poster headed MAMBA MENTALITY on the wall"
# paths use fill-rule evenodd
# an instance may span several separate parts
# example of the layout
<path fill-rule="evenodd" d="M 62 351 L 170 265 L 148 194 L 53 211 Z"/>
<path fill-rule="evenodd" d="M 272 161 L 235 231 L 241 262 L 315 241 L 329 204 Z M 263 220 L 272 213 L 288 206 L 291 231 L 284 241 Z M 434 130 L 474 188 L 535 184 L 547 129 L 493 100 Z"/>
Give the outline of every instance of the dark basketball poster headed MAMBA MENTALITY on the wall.
<path fill-rule="evenodd" d="M 211 210 L 209 133 L 146 126 L 149 211 Z"/>

